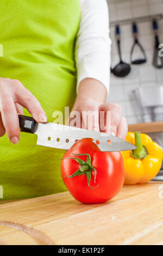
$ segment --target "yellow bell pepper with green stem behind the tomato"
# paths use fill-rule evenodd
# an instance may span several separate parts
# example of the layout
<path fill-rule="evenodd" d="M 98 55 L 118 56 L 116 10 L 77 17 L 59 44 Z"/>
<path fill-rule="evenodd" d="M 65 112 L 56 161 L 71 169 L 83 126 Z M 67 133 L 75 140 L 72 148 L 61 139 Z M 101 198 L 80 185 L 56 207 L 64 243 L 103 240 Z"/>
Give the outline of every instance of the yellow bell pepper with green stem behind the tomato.
<path fill-rule="evenodd" d="M 128 132 L 126 141 L 135 144 L 137 149 L 122 152 L 124 184 L 142 184 L 152 180 L 161 167 L 163 158 L 161 147 L 148 135 L 140 132 Z"/>

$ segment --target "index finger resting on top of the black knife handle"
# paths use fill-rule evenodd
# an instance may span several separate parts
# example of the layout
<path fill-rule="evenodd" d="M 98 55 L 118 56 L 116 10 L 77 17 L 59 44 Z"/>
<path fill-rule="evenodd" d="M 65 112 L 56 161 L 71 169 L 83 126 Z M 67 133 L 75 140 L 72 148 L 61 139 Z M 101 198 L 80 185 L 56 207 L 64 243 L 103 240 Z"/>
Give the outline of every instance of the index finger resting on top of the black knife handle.
<path fill-rule="evenodd" d="M 25 107 L 29 113 L 32 114 L 37 123 L 45 123 L 47 121 L 47 116 L 41 107 L 40 102 L 19 81 L 16 81 L 15 83 L 19 83 L 19 87 L 18 90 L 15 91 L 14 101 L 19 103 L 22 107 Z"/>

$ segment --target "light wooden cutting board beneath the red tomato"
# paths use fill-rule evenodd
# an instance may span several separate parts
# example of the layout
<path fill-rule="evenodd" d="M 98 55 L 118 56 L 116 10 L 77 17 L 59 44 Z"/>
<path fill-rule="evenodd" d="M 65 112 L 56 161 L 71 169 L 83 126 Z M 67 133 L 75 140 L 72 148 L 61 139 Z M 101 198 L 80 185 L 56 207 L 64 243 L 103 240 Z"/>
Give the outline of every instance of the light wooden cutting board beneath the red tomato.
<path fill-rule="evenodd" d="M 0 245 L 163 245 L 163 182 L 124 186 L 104 204 L 69 192 L 0 203 Z"/>

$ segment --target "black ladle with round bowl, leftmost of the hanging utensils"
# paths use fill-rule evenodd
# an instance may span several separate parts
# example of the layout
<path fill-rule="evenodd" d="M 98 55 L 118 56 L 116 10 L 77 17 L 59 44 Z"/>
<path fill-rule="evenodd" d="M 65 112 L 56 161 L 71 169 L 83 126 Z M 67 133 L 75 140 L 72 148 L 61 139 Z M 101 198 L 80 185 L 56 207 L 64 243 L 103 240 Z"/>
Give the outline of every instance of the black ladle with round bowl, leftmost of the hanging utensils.
<path fill-rule="evenodd" d="M 120 46 L 120 27 L 116 26 L 116 38 L 118 46 L 118 54 L 120 56 L 120 63 L 118 63 L 111 72 L 118 77 L 127 76 L 130 72 L 130 65 L 122 61 L 121 46 Z"/>

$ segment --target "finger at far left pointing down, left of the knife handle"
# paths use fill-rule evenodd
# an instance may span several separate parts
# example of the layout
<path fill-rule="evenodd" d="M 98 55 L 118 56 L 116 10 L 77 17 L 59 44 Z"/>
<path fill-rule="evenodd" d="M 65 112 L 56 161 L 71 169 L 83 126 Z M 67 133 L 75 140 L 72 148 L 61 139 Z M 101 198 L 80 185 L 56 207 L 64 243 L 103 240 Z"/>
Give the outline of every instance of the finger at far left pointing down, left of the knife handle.
<path fill-rule="evenodd" d="M 13 144 L 17 144 L 20 140 L 18 115 L 13 99 L 5 91 L 1 92 L 0 111 L 2 115 L 3 125 L 10 141 Z"/>

